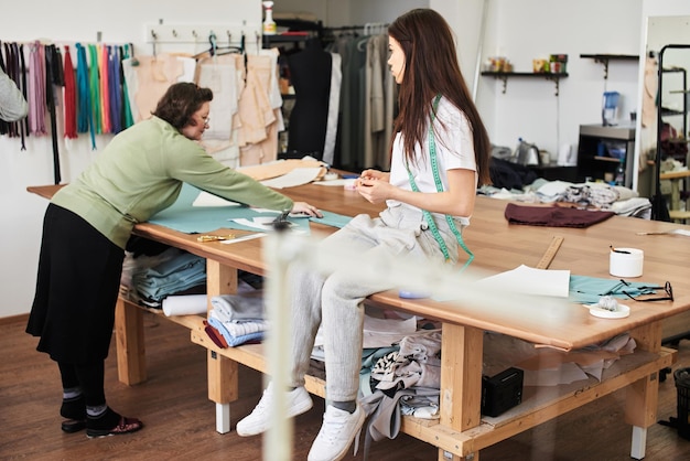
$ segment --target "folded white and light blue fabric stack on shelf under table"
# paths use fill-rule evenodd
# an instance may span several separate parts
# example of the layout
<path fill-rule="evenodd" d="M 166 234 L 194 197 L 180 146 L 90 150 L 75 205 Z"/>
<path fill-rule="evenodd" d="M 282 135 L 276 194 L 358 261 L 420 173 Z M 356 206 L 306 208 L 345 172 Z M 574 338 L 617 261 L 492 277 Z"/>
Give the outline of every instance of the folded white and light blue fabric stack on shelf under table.
<path fill-rule="evenodd" d="M 268 322 L 263 320 L 263 297 L 260 291 L 247 294 L 220 294 L 211 299 L 208 324 L 228 346 L 263 340 Z"/>

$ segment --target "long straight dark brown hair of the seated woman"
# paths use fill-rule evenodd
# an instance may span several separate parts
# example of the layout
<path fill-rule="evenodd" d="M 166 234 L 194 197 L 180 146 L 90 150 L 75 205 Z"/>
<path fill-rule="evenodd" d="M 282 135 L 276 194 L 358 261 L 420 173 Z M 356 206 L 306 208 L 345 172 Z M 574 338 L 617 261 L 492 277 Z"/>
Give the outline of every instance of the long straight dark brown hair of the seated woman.
<path fill-rule="evenodd" d="M 462 110 L 472 127 L 478 185 L 490 183 L 490 141 L 457 64 L 453 32 L 448 22 L 431 9 L 414 9 L 388 26 L 405 53 L 405 74 L 398 92 L 398 116 L 393 137 L 405 133 L 403 149 L 408 161 L 414 159 L 414 146 L 424 146 L 431 101 L 438 94 Z M 392 144 L 392 143 L 391 143 Z"/>

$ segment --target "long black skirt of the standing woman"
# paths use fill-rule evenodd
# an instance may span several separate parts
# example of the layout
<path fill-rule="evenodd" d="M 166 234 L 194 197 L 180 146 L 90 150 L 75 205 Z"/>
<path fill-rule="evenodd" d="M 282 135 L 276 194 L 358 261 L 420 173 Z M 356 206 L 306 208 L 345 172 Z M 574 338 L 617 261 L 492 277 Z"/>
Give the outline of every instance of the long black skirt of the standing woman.
<path fill-rule="evenodd" d="M 65 363 L 108 356 L 125 251 L 75 213 L 50 204 L 26 333 Z"/>

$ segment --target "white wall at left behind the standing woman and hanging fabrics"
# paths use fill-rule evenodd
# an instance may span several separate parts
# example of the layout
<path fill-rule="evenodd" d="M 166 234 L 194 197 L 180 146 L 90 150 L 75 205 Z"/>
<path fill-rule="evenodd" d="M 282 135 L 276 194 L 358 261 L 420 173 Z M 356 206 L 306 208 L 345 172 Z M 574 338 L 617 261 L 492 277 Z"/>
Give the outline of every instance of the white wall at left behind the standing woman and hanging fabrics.
<path fill-rule="evenodd" d="M 145 39 L 147 25 L 158 24 L 160 20 L 164 24 L 196 25 L 242 22 L 251 25 L 262 20 L 259 0 L 205 0 L 198 8 L 191 8 L 184 0 L 122 0 L 117 8 L 105 1 L 61 0 L 55 4 L 51 14 L 36 14 L 45 11 L 44 2 L 39 0 L 13 4 L 0 14 L 0 40 L 96 43 L 100 32 L 104 43 L 133 43 L 136 53 L 152 54 L 152 45 Z M 208 42 L 205 39 L 201 42 L 198 45 L 161 43 L 158 52 L 166 46 L 171 50 L 184 46 L 188 52 L 207 49 Z M 57 131 L 62 132 L 60 126 Z M 63 182 L 73 180 L 111 136 L 97 136 L 96 151 L 90 149 L 87 138 L 82 135 L 68 146 L 60 140 Z M 19 140 L 0 137 L 0 210 L 6 216 L 0 227 L 0 256 L 6 267 L 0 279 L 0 318 L 29 312 L 31 308 L 47 201 L 28 193 L 26 186 L 53 183 L 52 152 L 50 136 L 31 137 L 25 151 L 20 150 Z"/>

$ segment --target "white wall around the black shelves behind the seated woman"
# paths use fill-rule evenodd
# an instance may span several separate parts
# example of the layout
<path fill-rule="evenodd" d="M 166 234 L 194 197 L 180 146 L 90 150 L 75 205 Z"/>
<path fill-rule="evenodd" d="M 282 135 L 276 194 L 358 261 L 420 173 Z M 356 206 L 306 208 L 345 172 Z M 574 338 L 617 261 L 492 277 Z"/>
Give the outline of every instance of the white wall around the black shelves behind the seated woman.
<path fill-rule="evenodd" d="M 492 141 L 515 148 L 517 139 L 536 143 L 556 157 L 561 144 L 576 148 L 579 127 L 601 122 L 602 94 L 621 93 L 619 114 L 637 109 L 635 61 L 604 67 L 581 54 L 637 55 L 642 0 L 493 0 L 484 56 L 506 56 L 515 72 L 531 72 L 532 58 L 565 53 L 569 76 L 556 85 L 541 78 L 509 78 L 503 84 L 481 77 L 478 105 Z"/>

